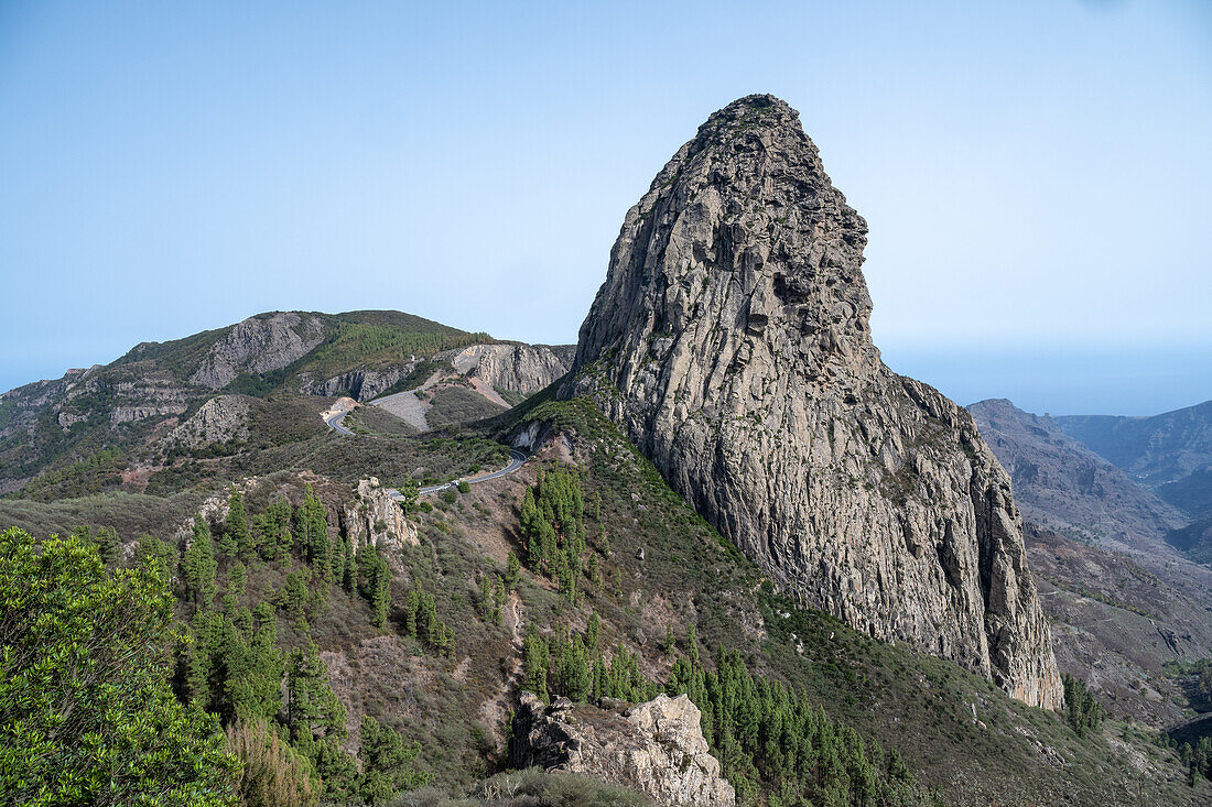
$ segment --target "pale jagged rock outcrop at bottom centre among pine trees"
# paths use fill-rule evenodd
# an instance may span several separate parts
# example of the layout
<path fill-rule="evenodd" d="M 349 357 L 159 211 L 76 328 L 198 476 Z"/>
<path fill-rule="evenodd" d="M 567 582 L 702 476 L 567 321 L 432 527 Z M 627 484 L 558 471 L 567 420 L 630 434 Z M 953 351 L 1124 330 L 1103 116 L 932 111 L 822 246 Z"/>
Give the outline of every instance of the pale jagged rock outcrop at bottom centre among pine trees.
<path fill-rule="evenodd" d="M 657 805 L 725 807 L 736 794 L 711 756 L 690 698 L 657 696 L 623 709 L 617 702 L 550 706 L 524 692 L 514 715 L 514 766 L 581 773 L 639 790 Z"/>

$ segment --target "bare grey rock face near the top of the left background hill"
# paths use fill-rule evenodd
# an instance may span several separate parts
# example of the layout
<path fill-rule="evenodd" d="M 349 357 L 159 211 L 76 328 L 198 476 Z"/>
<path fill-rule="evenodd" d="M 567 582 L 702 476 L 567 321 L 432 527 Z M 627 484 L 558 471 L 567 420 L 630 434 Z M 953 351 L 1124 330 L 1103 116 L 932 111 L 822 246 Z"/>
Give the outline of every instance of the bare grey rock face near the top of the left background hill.
<path fill-rule="evenodd" d="M 189 380 L 223 389 L 240 373 L 281 370 L 315 349 L 325 334 L 324 324 L 307 314 L 278 311 L 248 317 L 211 345 Z"/>

